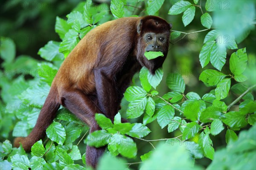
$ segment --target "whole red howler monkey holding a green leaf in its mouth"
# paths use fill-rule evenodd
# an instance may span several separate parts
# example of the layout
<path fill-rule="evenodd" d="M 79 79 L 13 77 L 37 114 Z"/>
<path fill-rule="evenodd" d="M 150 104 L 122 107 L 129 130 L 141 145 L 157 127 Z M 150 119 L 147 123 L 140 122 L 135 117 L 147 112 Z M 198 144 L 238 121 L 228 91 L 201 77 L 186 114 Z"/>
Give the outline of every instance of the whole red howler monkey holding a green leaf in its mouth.
<path fill-rule="evenodd" d="M 126 17 L 94 28 L 76 45 L 61 65 L 32 132 L 15 139 L 26 151 L 44 138 L 60 105 L 99 130 L 95 113 L 113 121 L 133 75 L 145 66 L 151 74 L 163 65 L 172 25 L 160 17 Z M 164 57 L 148 60 L 145 51 L 162 51 Z M 96 167 L 105 147 L 87 146 L 86 161 Z"/>

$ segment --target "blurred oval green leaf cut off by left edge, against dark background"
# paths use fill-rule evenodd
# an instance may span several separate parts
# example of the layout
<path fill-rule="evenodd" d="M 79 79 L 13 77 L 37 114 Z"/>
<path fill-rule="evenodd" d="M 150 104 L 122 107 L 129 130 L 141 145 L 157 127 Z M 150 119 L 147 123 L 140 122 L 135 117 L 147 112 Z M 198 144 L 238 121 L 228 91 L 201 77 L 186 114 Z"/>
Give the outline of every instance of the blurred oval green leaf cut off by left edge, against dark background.
<path fill-rule="evenodd" d="M 15 43 L 12 39 L 1 37 L 0 57 L 6 62 L 11 63 L 16 55 Z"/>

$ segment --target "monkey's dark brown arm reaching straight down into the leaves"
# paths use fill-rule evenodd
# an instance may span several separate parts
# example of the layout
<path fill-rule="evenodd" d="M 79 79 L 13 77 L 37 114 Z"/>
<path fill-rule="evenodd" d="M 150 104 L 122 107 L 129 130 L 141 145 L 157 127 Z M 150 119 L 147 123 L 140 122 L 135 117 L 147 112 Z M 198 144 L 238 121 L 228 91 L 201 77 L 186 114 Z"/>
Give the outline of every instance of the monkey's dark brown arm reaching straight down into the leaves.
<path fill-rule="evenodd" d="M 116 91 L 116 82 L 107 76 L 103 68 L 93 70 L 99 108 L 111 120 L 116 115 L 119 102 Z"/>

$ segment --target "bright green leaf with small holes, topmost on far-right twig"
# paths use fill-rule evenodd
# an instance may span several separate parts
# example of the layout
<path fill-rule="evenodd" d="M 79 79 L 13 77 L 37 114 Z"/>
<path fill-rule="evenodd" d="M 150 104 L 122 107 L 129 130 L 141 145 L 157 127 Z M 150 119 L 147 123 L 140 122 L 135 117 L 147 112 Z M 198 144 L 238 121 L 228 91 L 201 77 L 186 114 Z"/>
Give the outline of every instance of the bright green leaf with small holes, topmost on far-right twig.
<path fill-rule="evenodd" d="M 231 54 L 230 71 L 235 75 L 240 75 L 244 72 L 247 65 L 246 48 L 239 49 Z"/>

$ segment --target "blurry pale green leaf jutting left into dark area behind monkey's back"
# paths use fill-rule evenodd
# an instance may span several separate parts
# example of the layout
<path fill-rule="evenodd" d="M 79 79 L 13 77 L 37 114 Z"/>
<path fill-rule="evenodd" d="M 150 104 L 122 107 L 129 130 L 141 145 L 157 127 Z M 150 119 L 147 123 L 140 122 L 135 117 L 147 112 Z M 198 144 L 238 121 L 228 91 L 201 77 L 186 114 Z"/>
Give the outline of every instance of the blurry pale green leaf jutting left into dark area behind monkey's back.
<path fill-rule="evenodd" d="M 60 42 L 49 41 L 47 45 L 40 48 L 38 54 L 47 61 L 63 60 L 64 55 L 59 52 Z"/>

